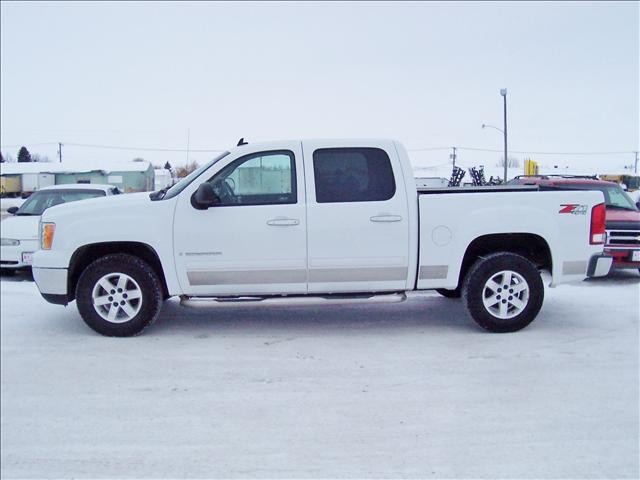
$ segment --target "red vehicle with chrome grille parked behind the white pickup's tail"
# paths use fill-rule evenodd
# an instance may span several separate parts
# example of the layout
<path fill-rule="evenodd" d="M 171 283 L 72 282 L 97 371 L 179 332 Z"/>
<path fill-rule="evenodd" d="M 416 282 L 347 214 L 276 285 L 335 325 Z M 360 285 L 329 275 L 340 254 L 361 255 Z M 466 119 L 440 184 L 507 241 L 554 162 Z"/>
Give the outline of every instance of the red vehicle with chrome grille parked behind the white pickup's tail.
<path fill-rule="evenodd" d="M 640 271 L 640 203 L 634 202 L 622 187 L 595 177 L 540 175 L 520 176 L 516 185 L 537 185 L 543 189 L 597 190 L 604 194 L 607 241 L 604 251 L 613 257 L 613 268 Z"/>

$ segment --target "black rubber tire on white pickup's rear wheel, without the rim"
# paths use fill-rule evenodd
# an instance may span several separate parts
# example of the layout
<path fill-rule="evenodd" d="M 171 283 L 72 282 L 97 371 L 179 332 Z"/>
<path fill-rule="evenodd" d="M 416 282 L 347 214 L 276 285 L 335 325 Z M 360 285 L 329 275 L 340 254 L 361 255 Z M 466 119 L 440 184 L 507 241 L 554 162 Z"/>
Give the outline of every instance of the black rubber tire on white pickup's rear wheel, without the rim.
<path fill-rule="evenodd" d="M 502 271 L 514 272 L 522 277 L 528 285 L 528 297 L 525 301 L 519 297 L 522 295 L 524 298 L 524 294 L 516 293 L 513 295 L 516 299 L 512 300 L 513 296 L 508 292 L 506 292 L 507 301 L 505 302 L 504 298 L 499 301 L 499 303 L 506 305 L 504 308 L 512 309 L 507 313 L 508 315 L 513 315 L 518 310 L 510 301 L 519 301 L 524 305 L 524 307 L 520 307 L 520 313 L 511 318 L 500 318 L 491 313 L 484 305 L 487 282 Z M 511 286 L 515 288 L 516 285 Z M 509 292 L 512 291 L 513 289 L 509 290 Z M 499 298 L 499 293 L 501 292 L 496 293 L 495 298 Z M 538 315 L 544 300 L 544 285 L 542 277 L 533 263 L 515 253 L 500 252 L 482 257 L 471 266 L 464 280 L 462 295 L 467 311 L 482 328 L 495 333 L 515 332 L 529 325 Z M 487 298 L 494 297 L 488 296 Z M 499 303 L 496 303 L 498 305 L 496 308 L 500 308 Z"/>

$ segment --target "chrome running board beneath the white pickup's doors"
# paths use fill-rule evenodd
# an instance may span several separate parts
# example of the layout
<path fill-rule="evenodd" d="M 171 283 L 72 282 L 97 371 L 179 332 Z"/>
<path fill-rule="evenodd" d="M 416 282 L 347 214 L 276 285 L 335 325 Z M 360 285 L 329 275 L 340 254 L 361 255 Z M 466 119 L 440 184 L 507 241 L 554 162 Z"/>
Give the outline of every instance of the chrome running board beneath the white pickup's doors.
<path fill-rule="evenodd" d="M 180 305 L 185 307 L 248 307 L 248 306 L 307 306 L 307 305 L 345 305 L 357 303 L 399 303 L 404 302 L 404 293 L 353 294 L 326 296 L 277 296 L 277 297 L 180 297 Z"/>

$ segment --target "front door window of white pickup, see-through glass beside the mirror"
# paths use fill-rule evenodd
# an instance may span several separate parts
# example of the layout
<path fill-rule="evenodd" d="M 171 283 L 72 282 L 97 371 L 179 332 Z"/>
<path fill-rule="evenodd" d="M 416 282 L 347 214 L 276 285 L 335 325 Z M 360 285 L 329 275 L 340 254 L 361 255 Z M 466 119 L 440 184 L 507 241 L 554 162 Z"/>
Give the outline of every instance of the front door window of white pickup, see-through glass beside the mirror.
<path fill-rule="evenodd" d="M 276 205 L 296 203 L 296 164 L 293 152 L 278 150 L 241 157 L 209 182 L 218 205 Z"/>

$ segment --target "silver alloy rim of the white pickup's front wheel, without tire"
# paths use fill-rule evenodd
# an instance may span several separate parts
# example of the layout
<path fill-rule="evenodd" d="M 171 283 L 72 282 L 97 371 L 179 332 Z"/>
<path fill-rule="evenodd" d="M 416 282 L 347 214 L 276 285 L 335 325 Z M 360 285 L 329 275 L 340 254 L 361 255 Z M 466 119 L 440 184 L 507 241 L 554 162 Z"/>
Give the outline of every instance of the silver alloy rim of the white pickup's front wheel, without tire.
<path fill-rule="evenodd" d="M 95 311 L 111 323 L 125 323 L 142 307 L 140 285 L 124 273 L 109 273 L 98 280 L 91 293 Z"/>

